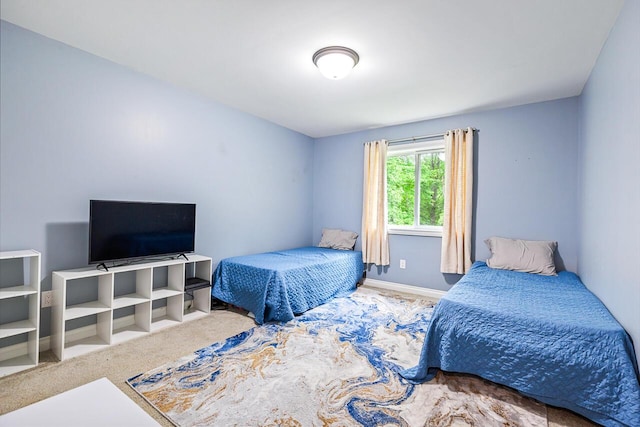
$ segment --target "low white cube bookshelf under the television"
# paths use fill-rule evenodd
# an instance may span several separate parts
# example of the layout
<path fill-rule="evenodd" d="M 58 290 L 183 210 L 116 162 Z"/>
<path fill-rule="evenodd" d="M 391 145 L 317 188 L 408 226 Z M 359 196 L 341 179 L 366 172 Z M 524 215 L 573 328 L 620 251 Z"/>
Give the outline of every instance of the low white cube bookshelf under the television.
<path fill-rule="evenodd" d="M 206 316 L 211 310 L 211 288 L 194 291 L 185 310 L 185 282 L 187 277 L 210 281 L 211 274 L 211 258 L 194 254 L 188 260 L 130 264 L 108 271 L 94 267 L 54 271 L 51 349 L 65 360 Z M 74 288 L 83 287 L 74 293 Z M 71 294 L 76 293 L 95 298 L 73 301 Z M 162 307 L 153 309 L 154 303 Z M 118 316 L 125 310 L 132 314 Z M 74 327 L 78 319 L 89 325 Z"/>

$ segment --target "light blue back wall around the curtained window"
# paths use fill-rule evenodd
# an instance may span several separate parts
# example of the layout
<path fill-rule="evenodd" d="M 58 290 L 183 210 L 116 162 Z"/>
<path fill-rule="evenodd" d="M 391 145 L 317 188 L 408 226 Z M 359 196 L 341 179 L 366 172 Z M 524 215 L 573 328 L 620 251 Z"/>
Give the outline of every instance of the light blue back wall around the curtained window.
<path fill-rule="evenodd" d="M 322 227 L 360 232 L 364 142 L 472 126 L 480 129 L 475 259 L 489 256 L 483 241 L 494 235 L 557 240 L 559 261 L 575 271 L 578 111 L 578 99 L 567 98 L 318 139 L 314 241 Z M 440 238 L 391 235 L 389 240 L 391 266 L 369 270 L 369 278 L 441 290 L 457 279 L 440 273 Z M 407 261 L 404 270 L 400 259 Z"/>

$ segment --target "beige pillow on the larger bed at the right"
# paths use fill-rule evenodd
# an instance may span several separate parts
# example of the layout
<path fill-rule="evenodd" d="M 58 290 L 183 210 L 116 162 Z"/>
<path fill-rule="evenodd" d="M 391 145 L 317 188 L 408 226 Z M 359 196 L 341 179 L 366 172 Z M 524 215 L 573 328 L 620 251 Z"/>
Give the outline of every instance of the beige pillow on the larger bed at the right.
<path fill-rule="evenodd" d="M 553 255 L 558 242 L 490 237 L 484 241 L 491 251 L 487 265 L 501 270 L 556 275 Z"/>

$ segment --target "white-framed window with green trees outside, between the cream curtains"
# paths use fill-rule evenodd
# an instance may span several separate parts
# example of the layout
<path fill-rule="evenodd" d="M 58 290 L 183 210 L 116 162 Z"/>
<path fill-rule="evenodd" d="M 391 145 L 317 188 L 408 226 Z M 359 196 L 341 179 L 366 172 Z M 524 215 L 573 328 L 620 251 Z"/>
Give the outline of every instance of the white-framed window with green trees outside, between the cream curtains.
<path fill-rule="evenodd" d="M 389 233 L 442 236 L 444 167 L 444 139 L 389 146 Z"/>

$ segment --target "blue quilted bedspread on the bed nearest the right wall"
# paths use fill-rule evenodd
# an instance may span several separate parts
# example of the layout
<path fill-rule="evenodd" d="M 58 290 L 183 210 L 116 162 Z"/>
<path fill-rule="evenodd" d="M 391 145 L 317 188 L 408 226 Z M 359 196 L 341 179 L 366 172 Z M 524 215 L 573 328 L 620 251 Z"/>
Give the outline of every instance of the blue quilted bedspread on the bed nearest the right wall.
<path fill-rule="evenodd" d="M 419 365 L 479 375 L 605 426 L 640 426 L 628 334 L 578 276 L 494 270 L 476 262 L 438 303 Z"/>

